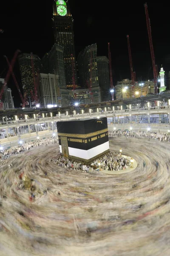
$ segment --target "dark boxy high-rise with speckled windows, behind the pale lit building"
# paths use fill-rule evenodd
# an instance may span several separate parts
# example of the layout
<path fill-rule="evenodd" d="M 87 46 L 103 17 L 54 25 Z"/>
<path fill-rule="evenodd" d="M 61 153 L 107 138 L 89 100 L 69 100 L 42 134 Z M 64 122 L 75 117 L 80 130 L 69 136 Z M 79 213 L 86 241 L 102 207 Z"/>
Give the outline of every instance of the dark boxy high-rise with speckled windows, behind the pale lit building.
<path fill-rule="evenodd" d="M 37 71 L 40 70 L 41 61 L 38 55 L 32 55 L 32 60 L 34 62 L 35 78 L 37 77 Z M 20 66 L 20 75 L 23 86 L 23 91 L 27 93 L 27 97 L 31 96 L 31 91 L 34 92 L 34 79 L 33 70 L 31 65 L 31 54 L 22 53 L 18 57 Z"/>

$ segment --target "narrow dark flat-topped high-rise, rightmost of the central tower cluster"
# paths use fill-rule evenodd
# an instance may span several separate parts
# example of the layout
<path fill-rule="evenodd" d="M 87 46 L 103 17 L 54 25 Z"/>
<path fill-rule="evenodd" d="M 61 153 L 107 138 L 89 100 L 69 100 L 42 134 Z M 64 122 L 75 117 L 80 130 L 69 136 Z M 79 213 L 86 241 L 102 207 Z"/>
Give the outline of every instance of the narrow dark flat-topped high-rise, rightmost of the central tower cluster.
<path fill-rule="evenodd" d="M 109 60 L 106 56 L 97 57 L 97 70 L 99 76 L 99 87 L 102 91 L 102 101 L 111 100 Z"/>

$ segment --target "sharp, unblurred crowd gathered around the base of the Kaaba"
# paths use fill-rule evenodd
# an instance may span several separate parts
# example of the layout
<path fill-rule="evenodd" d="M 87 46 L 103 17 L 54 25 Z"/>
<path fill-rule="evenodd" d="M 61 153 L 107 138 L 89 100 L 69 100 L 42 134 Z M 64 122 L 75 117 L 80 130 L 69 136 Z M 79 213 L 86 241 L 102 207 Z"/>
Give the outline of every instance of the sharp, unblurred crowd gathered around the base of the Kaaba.
<path fill-rule="evenodd" d="M 80 170 L 82 172 L 99 172 L 101 169 L 106 171 L 121 171 L 131 167 L 130 160 L 123 157 L 120 153 L 111 152 L 99 159 L 96 159 L 90 165 L 78 163 L 60 155 L 58 155 L 53 162 L 63 168 Z"/>

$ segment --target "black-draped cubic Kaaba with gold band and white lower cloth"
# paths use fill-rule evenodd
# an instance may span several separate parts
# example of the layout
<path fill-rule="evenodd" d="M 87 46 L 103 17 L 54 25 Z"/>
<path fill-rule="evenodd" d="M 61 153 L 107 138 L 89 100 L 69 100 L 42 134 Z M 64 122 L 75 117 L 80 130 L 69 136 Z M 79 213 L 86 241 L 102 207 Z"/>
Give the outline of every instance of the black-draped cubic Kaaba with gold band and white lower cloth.
<path fill-rule="evenodd" d="M 109 152 L 106 117 L 60 121 L 57 132 L 60 154 L 71 160 L 89 164 Z"/>

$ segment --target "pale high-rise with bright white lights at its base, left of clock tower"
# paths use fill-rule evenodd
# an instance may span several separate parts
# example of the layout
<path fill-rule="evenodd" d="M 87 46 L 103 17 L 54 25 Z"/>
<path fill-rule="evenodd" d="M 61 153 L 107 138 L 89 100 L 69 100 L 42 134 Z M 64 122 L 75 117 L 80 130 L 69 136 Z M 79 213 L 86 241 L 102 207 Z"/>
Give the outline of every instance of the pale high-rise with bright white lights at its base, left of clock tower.
<path fill-rule="evenodd" d="M 40 73 L 41 84 L 39 90 L 40 103 L 43 107 L 58 106 L 59 76 Z"/>

